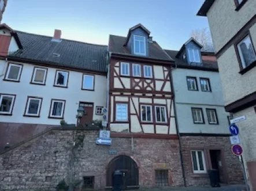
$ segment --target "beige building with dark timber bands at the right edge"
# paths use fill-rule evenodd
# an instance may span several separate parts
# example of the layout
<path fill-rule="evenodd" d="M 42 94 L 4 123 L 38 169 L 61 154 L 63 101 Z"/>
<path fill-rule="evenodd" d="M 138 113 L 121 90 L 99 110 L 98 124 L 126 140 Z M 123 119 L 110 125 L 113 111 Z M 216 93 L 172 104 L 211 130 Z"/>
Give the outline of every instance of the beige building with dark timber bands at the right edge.
<path fill-rule="evenodd" d="M 225 110 L 237 123 L 248 181 L 256 190 L 256 1 L 206 0 L 198 16 L 207 16 L 224 93 Z"/>

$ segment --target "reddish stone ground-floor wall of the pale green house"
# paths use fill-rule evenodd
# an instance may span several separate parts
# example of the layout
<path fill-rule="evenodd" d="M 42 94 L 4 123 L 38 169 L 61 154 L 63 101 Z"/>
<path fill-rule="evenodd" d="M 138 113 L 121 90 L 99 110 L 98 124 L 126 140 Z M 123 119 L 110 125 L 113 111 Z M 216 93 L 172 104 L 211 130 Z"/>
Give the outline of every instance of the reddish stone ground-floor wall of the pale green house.
<path fill-rule="evenodd" d="M 191 150 L 203 150 L 206 170 L 211 169 L 209 150 L 221 150 L 220 175 L 225 184 L 243 184 L 243 172 L 238 159 L 231 152 L 229 137 L 220 136 L 181 136 L 185 179 L 187 185 L 209 185 L 208 174 L 194 174 L 192 171 Z"/>

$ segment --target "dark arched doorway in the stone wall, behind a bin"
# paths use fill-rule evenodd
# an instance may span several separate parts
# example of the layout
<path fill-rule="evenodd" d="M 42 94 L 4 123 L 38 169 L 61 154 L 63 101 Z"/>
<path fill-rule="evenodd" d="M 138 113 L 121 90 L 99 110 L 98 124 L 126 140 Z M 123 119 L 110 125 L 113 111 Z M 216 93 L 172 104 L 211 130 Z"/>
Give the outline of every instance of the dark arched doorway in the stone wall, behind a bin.
<path fill-rule="evenodd" d="M 106 185 L 113 185 L 114 171 L 123 173 L 123 189 L 139 187 L 139 170 L 135 161 L 129 156 L 120 155 L 110 161 L 107 166 Z"/>

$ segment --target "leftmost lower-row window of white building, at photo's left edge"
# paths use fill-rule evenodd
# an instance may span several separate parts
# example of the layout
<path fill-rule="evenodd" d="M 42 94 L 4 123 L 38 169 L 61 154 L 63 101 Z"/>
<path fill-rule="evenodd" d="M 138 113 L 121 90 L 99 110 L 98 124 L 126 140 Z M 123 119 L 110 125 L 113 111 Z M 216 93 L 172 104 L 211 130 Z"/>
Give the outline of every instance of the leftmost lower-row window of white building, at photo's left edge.
<path fill-rule="evenodd" d="M 12 114 L 15 95 L 0 94 L 0 114 Z"/>

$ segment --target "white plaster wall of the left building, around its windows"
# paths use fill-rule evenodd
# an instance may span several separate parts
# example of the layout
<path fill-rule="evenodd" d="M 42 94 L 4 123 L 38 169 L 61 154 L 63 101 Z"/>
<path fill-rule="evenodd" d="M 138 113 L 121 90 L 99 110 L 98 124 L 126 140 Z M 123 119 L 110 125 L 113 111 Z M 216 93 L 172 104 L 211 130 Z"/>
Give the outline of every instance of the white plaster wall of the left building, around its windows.
<path fill-rule="evenodd" d="M 3 68 L 5 64 L 5 60 L 0 61 L 1 68 Z M 16 101 L 14 103 L 12 116 L 0 115 L 1 122 L 58 125 L 60 124 L 60 119 L 48 119 L 52 98 L 66 100 L 64 119 L 69 124 L 76 124 L 76 110 L 78 108 L 79 101 L 93 102 L 93 119 L 102 119 L 102 116 L 95 115 L 95 106 L 106 106 L 106 76 L 95 75 L 95 90 L 86 91 L 81 90 L 83 76 L 83 73 L 81 72 L 69 71 L 68 88 L 63 88 L 53 86 L 55 68 L 48 68 L 46 86 L 30 84 L 33 69 L 34 66 L 32 64 L 23 64 L 23 71 L 21 72 L 19 83 L 3 81 L 2 79 L 4 75 L 0 76 L 0 94 L 16 94 Z M 43 97 L 39 118 L 23 116 L 27 96 Z"/>

